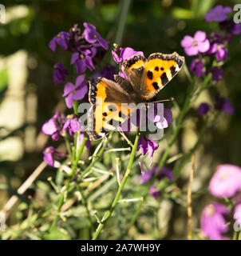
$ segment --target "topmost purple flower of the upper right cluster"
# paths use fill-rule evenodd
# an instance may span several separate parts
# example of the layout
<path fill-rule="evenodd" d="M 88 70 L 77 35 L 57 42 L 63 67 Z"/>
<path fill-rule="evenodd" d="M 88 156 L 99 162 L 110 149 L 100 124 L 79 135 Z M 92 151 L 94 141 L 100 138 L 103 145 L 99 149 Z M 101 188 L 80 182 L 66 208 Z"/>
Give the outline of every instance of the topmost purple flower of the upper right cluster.
<path fill-rule="evenodd" d="M 227 14 L 232 12 L 231 7 L 215 6 L 205 15 L 206 22 L 224 22 L 227 20 Z"/>

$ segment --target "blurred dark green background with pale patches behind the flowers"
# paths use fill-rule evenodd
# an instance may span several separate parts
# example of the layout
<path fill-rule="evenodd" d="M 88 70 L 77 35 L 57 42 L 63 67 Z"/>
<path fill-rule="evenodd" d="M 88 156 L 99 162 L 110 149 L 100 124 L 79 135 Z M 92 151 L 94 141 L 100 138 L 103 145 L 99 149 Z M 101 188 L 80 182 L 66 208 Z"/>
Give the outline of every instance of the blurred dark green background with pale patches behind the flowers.
<path fill-rule="evenodd" d="M 184 35 L 193 35 L 196 30 L 206 31 L 207 34 L 218 30 L 215 22 L 207 23 L 203 18 L 211 7 L 216 4 L 232 7 L 238 2 L 134 0 L 119 43 L 121 46 L 141 50 L 146 56 L 153 52 L 173 51 L 184 55 L 180 46 Z M 6 6 L 6 24 L 0 24 L 0 209 L 42 161 L 41 152 L 48 140 L 41 134 L 43 122 L 52 117 L 56 108 L 65 110 L 65 102 L 61 98 L 63 88 L 53 85 L 52 71 L 55 62 L 64 62 L 69 66 L 69 54 L 60 48 L 53 53 L 48 48 L 49 40 L 59 31 L 68 31 L 75 23 L 79 24 L 81 30 L 83 22 L 92 23 L 101 36 L 110 41 L 110 49 L 105 58 L 108 61 L 111 59 L 111 48 L 121 19 L 119 1 L 7 0 L 1 3 Z M 223 80 L 213 89 L 213 93 L 219 91 L 230 98 L 235 106 L 235 115 L 230 117 L 223 114 L 223 121 L 206 135 L 196 154 L 194 191 L 207 191 L 209 178 L 219 163 L 241 166 L 240 36 L 233 38 L 229 55 L 228 62 L 223 66 Z M 188 66 L 191 60 L 186 56 Z M 178 78 L 160 92 L 160 98 L 172 96 L 181 105 L 187 88 L 188 80 L 184 73 L 180 73 Z M 200 96 L 196 106 L 203 101 L 212 102 L 212 98 L 213 94 L 206 92 Z M 167 106 L 172 108 L 175 117 L 172 103 Z M 197 117 L 196 109 L 188 115 L 188 120 L 190 125 L 182 131 L 172 154 L 187 151 L 196 139 L 202 122 Z M 165 144 L 160 145 L 160 153 L 164 146 Z M 156 153 L 154 162 L 158 162 L 160 153 Z M 184 193 L 187 190 L 189 170 L 190 166 L 186 166 L 179 181 L 179 187 Z M 30 196 L 35 198 L 39 206 L 45 204 L 45 195 L 39 191 L 49 191 L 49 185 L 45 185 L 45 181 L 49 176 L 54 176 L 55 172 L 50 167 L 45 169 L 36 185 L 22 196 L 22 202 L 26 203 L 22 206 L 23 210 L 19 210 L 19 204 L 14 206 L 8 226 L 18 226 L 26 218 L 24 210 L 30 204 Z M 200 212 L 210 198 L 207 194 L 199 193 L 194 197 L 194 226 L 198 230 Z M 126 206 L 125 213 L 128 213 L 128 207 L 131 206 Z M 78 221 L 81 222 L 76 218 L 73 223 Z M 128 216 L 125 221 L 128 222 Z M 109 222 L 109 232 L 102 238 L 120 238 L 117 231 L 111 230 L 113 222 L 120 222 L 120 219 Z M 73 231 L 72 238 L 88 238 L 85 225 L 76 224 Z M 186 208 L 180 202 L 164 199 L 162 202 L 152 200 L 143 207 L 136 225 L 126 238 L 185 239 L 186 234 Z M 29 237 L 20 235 L 18 238 Z"/>

